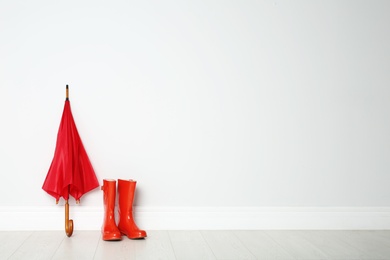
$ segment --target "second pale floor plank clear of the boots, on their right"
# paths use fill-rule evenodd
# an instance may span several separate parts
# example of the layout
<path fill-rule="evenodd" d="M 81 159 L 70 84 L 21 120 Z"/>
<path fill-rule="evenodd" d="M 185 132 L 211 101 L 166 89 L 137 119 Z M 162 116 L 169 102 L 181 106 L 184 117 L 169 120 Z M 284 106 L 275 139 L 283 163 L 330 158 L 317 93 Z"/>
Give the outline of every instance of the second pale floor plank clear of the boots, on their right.
<path fill-rule="evenodd" d="M 201 231 L 217 259 L 256 259 L 232 231 Z"/>

